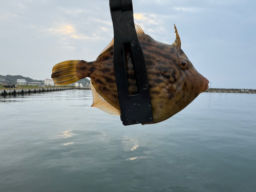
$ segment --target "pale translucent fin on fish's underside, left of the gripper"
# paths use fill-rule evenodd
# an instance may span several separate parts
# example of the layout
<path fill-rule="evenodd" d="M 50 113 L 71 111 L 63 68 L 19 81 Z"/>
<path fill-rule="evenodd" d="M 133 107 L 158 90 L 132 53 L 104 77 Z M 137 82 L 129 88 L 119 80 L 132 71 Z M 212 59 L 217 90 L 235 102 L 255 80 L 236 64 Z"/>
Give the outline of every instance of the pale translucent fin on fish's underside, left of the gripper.
<path fill-rule="evenodd" d="M 90 82 L 90 87 L 93 93 L 93 104 L 95 108 L 102 110 L 110 115 L 120 116 L 120 110 L 116 109 L 112 104 L 106 101 L 99 92 L 94 88 L 92 81 Z"/>

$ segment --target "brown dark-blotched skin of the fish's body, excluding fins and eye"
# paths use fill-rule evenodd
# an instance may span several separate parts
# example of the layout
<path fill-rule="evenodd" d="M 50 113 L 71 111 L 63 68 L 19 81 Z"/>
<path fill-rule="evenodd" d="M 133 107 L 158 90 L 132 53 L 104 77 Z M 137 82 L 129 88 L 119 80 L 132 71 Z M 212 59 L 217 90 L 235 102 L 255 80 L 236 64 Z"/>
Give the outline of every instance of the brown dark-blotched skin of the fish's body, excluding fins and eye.
<path fill-rule="evenodd" d="M 158 42 L 146 34 L 138 34 L 144 53 L 148 84 L 150 87 L 153 121 L 158 123 L 172 117 L 184 109 L 200 93 L 207 89 L 209 81 L 194 68 L 178 45 Z M 133 69 L 131 56 L 125 54 L 130 74 L 129 93 L 136 93 L 136 81 L 130 73 Z M 187 67 L 179 67 L 181 60 Z M 90 77 L 99 94 L 115 108 L 120 109 L 115 72 L 113 66 L 113 46 L 103 52 L 95 61 L 80 60 L 77 63 L 77 77 Z M 177 87 L 176 82 L 180 81 Z"/>

